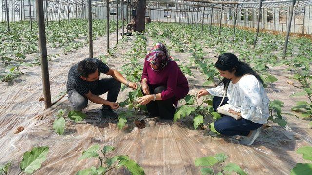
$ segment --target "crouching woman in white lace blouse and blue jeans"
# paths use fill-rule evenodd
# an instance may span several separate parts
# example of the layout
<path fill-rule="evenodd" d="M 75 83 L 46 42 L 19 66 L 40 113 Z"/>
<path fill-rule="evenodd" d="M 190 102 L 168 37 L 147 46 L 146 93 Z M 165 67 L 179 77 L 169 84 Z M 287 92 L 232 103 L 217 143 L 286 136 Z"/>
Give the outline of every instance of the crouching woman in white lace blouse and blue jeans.
<path fill-rule="evenodd" d="M 216 111 L 226 92 L 221 105 L 229 104 L 229 112 L 241 116 L 241 119 L 223 116 L 215 122 L 215 130 L 227 136 L 245 136 L 240 142 L 251 145 L 259 136 L 259 128 L 267 123 L 269 117 L 269 99 L 263 88 L 263 80 L 232 53 L 220 55 L 215 67 L 224 77 L 223 80 L 215 88 L 200 90 L 197 97 L 208 94 L 215 96 L 213 108 Z"/>

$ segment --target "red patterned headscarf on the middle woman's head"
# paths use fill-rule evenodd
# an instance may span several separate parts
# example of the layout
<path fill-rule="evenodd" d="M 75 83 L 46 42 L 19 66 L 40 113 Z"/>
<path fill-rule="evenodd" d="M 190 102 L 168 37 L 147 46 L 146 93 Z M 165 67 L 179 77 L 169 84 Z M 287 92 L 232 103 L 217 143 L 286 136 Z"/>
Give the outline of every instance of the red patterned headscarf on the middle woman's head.
<path fill-rule="evenodd" d="M 154 47 L 152 47 L 150 53 L 146 55 L 145 60 L 158 66 L 158 69 L 155 71 L 159 71 L 173 59 L 169 56 L 166 46 L 163 43 L 157 43 Z"/>

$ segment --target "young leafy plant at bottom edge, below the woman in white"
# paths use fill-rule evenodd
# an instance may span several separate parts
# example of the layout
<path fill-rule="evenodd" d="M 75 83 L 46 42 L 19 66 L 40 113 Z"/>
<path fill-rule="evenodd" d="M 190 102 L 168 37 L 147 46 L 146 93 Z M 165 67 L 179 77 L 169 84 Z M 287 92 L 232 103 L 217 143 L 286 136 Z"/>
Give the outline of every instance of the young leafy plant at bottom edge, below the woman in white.
<path fill-rule="evenodd" d="M 215 156 L 207 156 L 196 158 L 195 166 L 201 166 L 201 175 L 229 175 L 235 172 L 239 175 L 247 175 L 237 164 L 228 163 L 224 166 L 224 161 L 228 158 L 224 153 L 216 154 Z M 216 166 L 219 165 L 219 166 Z M 217 170 L 217 173 L 215 172 Z"/>

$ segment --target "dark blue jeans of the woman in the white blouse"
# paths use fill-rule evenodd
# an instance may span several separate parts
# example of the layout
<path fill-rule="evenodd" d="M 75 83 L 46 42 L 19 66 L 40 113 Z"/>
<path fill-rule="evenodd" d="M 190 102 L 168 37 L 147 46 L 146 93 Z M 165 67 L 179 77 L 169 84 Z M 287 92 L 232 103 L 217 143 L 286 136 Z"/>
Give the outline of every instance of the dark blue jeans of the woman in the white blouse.
<path fill-rule="evenodd" d="M 222 97 L 213 98 L 213 108 L 216 112 L 216 109 L 219 107 L 222 101 Z M 224 98 L 222 105 L 227 104 L 228 98 Z M 223 116 L 221 119 L 215 121 L 215 130 L 220 134 L 227 136 L 247 136 L 250 131 L 260 128 L 262 124 L 254 123 L 250 120 L 241 118 L 239 120 L 234 119 L 231 116 Z"/>

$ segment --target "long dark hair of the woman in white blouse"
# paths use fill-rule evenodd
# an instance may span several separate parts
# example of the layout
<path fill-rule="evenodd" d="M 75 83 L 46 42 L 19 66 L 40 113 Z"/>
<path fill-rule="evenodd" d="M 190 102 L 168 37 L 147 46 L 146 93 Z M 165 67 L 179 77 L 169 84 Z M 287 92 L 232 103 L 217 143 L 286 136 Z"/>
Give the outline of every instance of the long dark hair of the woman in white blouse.
<path fill-rule="evenodd" d="M 236 70 L 236 77 L 241 77 L 248 73 L 252 74 L 263 84 L 261 77 L 249 66 L 249 64 L 239 61 L 237 56 L 232 53 L 223 53 L 220 55 L 218 61 L 215 63 L 215 67 L 222 71 L 227 70 L 229 72 L 233 72 Z M 226 91 L 230 81 L 231 79 L 223 78 L 218 85 L 223 84 L 224 90 Z"/>

